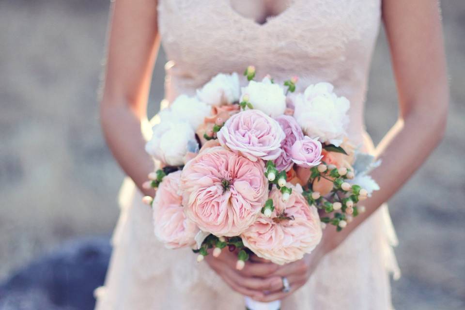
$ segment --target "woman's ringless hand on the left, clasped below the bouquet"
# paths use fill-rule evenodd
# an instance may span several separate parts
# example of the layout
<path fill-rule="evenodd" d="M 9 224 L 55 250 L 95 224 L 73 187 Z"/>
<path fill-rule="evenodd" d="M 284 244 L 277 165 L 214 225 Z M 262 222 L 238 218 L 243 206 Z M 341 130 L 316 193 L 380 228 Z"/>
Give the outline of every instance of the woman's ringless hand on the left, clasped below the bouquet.
<path fill-rule="evenodd" d="M 227 248 L 218 257 L 205 256 L 205 261 L 234 291 L 255 300 L 282 289 L 281 277 L 272 275 L 279 269 L 277 264 L 248 261 L 244 269 L 236 270 L 237 253 Z"/>

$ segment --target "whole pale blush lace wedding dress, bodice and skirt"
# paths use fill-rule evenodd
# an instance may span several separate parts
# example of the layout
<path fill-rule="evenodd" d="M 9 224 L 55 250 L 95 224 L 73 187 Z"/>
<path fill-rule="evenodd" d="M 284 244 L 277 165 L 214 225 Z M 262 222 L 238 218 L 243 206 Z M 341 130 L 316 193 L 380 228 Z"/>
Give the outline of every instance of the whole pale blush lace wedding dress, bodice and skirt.
<path fill-rule="evenodd" d="M 363 105 L 380 6 L 380 0 L 294 0 L 258 24 L 233 10 L 230 0 L 160 0 L 159 30 L 170 59 L 166 98 L 195 94 L 217 73 L 242 72 L 249 64 L 256 66 L 259 79 L 297 75 L 301 87 L 331 82 L 351 102 L 350 138 L 370 150 Z M 196 263 L 190 249 L 165 249 L 155 239 L 151 208 L 141 198 L 126 180 L 96 309 L 244 309 L 243 296 L 206 263 Z M 388 273 L 399 272 L 394 242 L 382 206 L 321 261 L 305 286 L 282 301 L 282 309 L 391 309 Z"/>

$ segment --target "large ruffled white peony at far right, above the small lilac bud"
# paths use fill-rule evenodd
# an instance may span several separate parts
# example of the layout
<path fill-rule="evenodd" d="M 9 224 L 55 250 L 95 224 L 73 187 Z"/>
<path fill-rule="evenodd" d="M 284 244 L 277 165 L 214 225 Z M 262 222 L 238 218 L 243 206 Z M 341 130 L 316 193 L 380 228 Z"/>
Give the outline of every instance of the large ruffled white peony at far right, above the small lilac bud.
<path fill-rule="evenodd" d="M 307 87 L 303 94 L 295 97 L 294 118 L 307 136 L 320 137 L 322 142 L 339 146 L 346 135 L 350 102 L 338 97 L 333 89 L 330 83 Z"/>

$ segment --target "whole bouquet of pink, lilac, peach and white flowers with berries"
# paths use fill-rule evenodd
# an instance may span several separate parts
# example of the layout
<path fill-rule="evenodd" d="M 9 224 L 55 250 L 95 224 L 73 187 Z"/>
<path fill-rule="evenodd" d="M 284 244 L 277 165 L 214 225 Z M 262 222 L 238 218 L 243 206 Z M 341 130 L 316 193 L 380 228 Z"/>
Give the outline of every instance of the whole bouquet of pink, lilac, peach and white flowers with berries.
<path fill-rule="evenodd" d="M 196 96 L 177 97 L 159 113 L 146 151 L 161 162 L 144 186 L 156 188 L 155 235 L 167 248 L 249 255 L 273 263 L 300 260 L 327 224 L 340 231 L 379 189 L 376 166 L 347 139 L 349 101 L 329 83 L 296 93 L 279 85 L 218 74 Z M 250 306 L 249 306 L 250 308 Z"/>

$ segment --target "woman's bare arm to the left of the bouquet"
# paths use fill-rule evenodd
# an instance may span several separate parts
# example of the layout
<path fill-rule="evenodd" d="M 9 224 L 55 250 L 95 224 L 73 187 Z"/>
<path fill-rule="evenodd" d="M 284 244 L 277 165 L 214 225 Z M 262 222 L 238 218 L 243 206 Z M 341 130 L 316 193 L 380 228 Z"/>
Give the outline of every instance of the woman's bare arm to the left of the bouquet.
<path fill-rule="evenodd" d="M 142 188 L 154 162 L 145 152 L 141 124 L 159 47 L 155 0 L 112 1 L 105 86 L 100 108 L 105 138 L 114 157 Z"/>

